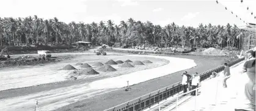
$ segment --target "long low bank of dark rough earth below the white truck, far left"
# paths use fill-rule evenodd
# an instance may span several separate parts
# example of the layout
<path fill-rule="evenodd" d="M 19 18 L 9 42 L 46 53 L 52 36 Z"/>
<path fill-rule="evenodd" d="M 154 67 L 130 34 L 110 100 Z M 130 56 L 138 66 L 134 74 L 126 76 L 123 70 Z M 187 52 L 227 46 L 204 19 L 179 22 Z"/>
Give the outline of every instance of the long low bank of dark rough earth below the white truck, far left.
<path fill-rule="evenodd" d="M 58 60 L 60 61 L 60 60 Z M 46 58 L 45 60 L 37 59 L 37 58 L 11 58 L 7 59 L 6 61 L 0 61 L 0 68 L 2 67 L 9 67 L 9 66 L 34 66 L 38 64 L 46 64 L 50 62 L 57 62 L 56 59 Z"/>

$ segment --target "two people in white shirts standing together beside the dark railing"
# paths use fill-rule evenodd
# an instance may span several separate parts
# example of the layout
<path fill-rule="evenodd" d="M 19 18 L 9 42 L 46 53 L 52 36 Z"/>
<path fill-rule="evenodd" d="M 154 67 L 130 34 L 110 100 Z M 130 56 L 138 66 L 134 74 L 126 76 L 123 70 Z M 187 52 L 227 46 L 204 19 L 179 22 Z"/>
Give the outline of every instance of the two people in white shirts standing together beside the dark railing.
<path fill-rule="evenodd" d="M 187 90 L 194 90 L 199 86 L 200 82 L 200 76 L 198 76 L 198 73 L 194 73 L 194 75 L 189 75 L 188 72 L 184 72 L 181 74 L 183 76 L 181 84 L 183 85 L 183 93 L 186 93 Z M 190 84 L 190 79 L 192 78 L 192 82 Z M 191 92 L 191 95 L 196 95 L 196 90 Z"/>

